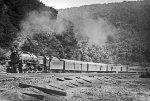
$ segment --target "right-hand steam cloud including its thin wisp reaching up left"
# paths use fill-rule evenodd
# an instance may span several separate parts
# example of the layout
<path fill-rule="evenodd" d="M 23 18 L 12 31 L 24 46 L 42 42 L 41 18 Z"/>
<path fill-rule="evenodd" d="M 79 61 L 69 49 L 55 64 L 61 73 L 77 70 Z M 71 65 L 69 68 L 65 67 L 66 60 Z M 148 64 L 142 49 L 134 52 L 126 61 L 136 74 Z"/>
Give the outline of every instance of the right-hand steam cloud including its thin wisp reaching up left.
<path fill-rule="evenodd" d="M 82 9 L 81 9 L 82 10 Z M 72 14 L 72 12 L 74 12 Z M 102 18 L 93 19 L 88 11 L 60 11 L 60 16 L 73 22 L 74 33 L 80 38 L 87 37 L 91 44 L 104 45 L 108 37 L 114 38 L 117 33 L 116 28 L 107 20 Z M 61 28 L 63 29 L 63 28 Z"/>

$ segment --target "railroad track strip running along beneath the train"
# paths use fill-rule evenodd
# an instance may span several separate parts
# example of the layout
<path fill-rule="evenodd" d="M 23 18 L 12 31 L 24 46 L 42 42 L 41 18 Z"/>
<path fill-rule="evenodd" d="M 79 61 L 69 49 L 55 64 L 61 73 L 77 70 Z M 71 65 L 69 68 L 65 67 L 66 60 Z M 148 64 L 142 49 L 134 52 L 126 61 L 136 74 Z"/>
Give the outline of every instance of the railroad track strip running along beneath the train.
<path fill-rule="evenodd" d="M 17 74 L 17 73 L 3 73 L 0 74 L 0 81 L 7 81 L 7 80 L 15 80 L 21 78 L 51 78 L 51 77 L 104 77 L 104 78 L 113 78 L 113 79 L 128 79 L 132 76 L 139 75 L 139 74 L 131 74 L 131 73 L 25 73 L 25 74 Z"/>

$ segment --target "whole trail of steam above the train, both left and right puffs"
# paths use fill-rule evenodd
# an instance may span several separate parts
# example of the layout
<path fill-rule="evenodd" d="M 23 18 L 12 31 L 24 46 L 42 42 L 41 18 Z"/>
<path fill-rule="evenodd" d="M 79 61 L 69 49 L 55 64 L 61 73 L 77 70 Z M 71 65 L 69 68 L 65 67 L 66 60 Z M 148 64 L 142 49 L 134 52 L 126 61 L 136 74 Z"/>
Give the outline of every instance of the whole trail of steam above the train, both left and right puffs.
<path fill-rule="evenodd" d="M 18 33 L 19 46 L 23 45 L 25 40 L 31 38 L 36 32 L 62 33 L 67 29 L 68 20 L 74 24 L 76 37 L 88 37 L 92 44 L 104 45 L 107 37 L 116 33 L 116 28 L 107 20 L 90 18 L 88 12 L 72 15 L 75 17 L 68 15 L 64 13 L 64 16 L 58 16 L 56 21 L 50 18 L 50 13 L 47 11 L 29 13 L 20 24 L 22 30 Z"/>

